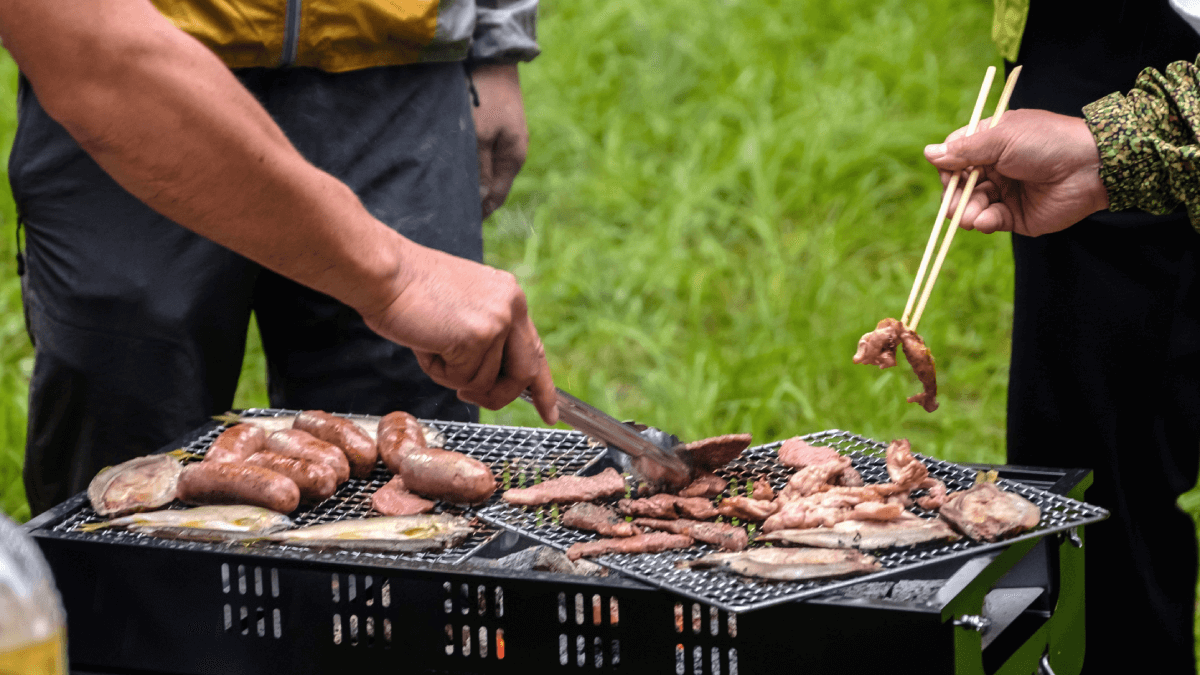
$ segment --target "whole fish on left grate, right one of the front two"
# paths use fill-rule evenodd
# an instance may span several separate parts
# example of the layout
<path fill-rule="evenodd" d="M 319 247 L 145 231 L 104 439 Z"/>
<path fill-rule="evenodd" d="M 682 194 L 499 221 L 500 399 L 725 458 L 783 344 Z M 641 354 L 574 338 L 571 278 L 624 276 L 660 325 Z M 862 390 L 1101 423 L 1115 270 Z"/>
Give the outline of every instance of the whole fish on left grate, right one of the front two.
<path fill-rule="evenodd" d="M 313 549 L 414 552 L 457 546 L 472 531 L 470 522 L 457 515 L 385 515 L 310 525 L 263 539 Z"/>

